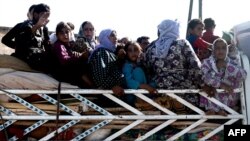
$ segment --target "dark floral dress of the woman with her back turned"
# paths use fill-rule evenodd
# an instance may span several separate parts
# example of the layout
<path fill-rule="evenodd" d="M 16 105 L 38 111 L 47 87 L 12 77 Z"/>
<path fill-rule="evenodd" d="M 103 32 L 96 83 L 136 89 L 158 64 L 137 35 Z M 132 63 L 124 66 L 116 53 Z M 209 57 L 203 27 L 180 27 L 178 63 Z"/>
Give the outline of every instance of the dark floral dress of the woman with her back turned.
<path fill-rule="evenodd" d="M 179 39 L 172 43 L 165 58 L 156 54 L 154 42 L 146 49 L 144 65 L 160 89 L 197 89 L 201 82 L 201 63 L 188 41 Z M 148 75 L 148 74 L 147 74 Z M 197 94 L 179 95 L 194 105 L 199 104 Z M 187 112 L 189 109 L 174 101 L 174 110 Z M 178 106 L 175 106 L 178 105 Z"/>

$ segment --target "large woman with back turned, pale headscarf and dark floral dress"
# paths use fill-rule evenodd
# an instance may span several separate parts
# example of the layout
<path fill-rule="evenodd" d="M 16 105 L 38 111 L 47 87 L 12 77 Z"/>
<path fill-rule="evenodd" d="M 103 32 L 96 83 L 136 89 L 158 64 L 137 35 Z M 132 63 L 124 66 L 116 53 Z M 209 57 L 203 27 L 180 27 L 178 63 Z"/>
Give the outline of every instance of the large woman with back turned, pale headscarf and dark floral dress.
<path fill-rule="evenodd" d="M 200 61 L 192 46 L 179 39 L 179 23 L 164 20 L 158 26 L 158 39 L 145 51 L 144 64 L 160 89 L 197 89 L 201 84 Z M 198 105 L 195 94 L 182 95 Z"/>

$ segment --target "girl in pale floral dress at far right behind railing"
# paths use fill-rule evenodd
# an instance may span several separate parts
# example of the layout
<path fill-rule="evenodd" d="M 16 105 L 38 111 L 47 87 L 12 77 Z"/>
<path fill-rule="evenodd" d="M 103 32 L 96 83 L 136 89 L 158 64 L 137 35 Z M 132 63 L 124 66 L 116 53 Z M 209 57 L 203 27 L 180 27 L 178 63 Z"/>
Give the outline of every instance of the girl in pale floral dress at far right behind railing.
<path fill-rule="evenodd" d="M 214 89 L 224 89 L 223 93 L 215 93 L 216 99 L 225 105 L 237 109 L 239 93 L 234 93 L 241 82 L 246 78 L 246 71 L 228 57 L 228 46 L 224 39 L 218 38 L 213 44 L 213 54 L 202 63 L 203 80 L 205 84 Z M 201 98 L 201 106 L 205 107 L 207 114 L 226 115 L 227 113 L 207 99 Z"/>

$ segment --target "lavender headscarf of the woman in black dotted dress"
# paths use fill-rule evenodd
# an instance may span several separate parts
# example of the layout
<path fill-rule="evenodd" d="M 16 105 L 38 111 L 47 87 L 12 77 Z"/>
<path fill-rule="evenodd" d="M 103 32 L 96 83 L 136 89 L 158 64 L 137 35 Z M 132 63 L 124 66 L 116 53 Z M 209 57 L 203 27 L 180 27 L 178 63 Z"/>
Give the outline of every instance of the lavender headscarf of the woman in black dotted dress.
<path fill-rule="evenodd" d="M 96 49 L 98 48 L 105 48 L 105 49 L 108 49 L 109 51 L 111 52 L 115 52 L 116 50 L 116 45 L 113 44 L 110 40 L 109 40 L 109 36 L 111 35 L 111 33 L 113 32 L 114 30 L 111 30 L 111 29 L 104 29 L 100 32 L 99 34 L 99 42 L 100 42 L 100 45 L 98 45 L 96 47 Z"/>

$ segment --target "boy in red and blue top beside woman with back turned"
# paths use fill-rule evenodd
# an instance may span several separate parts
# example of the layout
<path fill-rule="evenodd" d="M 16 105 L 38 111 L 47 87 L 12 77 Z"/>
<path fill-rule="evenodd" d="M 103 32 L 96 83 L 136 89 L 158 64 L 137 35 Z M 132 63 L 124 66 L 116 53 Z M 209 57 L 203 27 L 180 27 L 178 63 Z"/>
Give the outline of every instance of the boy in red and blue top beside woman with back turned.
<path fill-rule="evenodd" d="M 189 35 L 187 36 L 187 40 L 201 61 L 211 55 L 211 44 L 201 38 L 203 29 L 204 24 L 199 19 L 193 19 L 188 23 Z"/>

